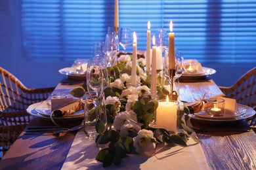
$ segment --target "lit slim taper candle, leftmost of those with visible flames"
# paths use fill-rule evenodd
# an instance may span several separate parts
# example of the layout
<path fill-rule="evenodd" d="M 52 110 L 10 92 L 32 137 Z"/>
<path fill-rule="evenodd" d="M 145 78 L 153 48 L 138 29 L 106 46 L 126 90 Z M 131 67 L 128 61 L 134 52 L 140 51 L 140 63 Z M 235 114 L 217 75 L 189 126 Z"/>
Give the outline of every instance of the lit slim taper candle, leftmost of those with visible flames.
<path fill-rule="evenodd" d="M 131 86 L 137 86 L 136 76 L 137 76 L 137 36 L 133 32 L 133 61 L 131 67 Z"/>

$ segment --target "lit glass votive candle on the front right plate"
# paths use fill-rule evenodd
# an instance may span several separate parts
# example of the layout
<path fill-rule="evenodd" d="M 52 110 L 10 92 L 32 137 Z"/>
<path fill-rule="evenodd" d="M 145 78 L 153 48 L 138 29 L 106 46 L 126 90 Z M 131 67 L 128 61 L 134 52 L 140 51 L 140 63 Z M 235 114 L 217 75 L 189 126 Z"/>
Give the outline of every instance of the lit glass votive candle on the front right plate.
<path fill-rule="evenodd" d="M 208 114 L 211 116 L 223 116 L 225 109 L 225 100 L 221 98 L 209 98 L 207 99 L 209 103 Z"/>

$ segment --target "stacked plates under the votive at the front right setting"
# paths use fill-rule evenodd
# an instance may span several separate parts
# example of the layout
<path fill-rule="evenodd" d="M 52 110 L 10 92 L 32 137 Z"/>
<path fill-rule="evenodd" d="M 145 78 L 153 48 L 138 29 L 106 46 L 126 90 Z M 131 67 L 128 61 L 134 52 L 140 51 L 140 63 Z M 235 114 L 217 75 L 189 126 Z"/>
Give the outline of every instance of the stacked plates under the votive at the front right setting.
<path fill-rule="evenodd" d="M 225 114 L 223 116 L 211 116 L 208 114 L 207 109 L 202 112 L 196 112 L 194 114 L 189 114 L 190 118 L 198 120 L 200 122 L 236 122 L 239 120 L 244 120 L 251 118 L 255 114 L 255 110 L 251 107 L 245 105 L 237 105 L 236 112 L 234 114 Z"/>

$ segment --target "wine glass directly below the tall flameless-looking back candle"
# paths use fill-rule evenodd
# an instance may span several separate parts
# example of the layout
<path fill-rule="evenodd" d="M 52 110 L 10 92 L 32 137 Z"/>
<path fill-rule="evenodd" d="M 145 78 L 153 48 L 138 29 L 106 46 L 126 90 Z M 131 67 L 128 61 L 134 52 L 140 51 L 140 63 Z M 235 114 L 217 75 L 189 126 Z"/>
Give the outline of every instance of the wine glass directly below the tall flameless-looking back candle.
<path fill-rule="evenodd" d="M 106 59 L 108 61 L 108 67 L 112 67 L 116 64 L 117 54 L 119 53 L 119 41 L 118 35 L 107 34 L 105 41 Z"/>

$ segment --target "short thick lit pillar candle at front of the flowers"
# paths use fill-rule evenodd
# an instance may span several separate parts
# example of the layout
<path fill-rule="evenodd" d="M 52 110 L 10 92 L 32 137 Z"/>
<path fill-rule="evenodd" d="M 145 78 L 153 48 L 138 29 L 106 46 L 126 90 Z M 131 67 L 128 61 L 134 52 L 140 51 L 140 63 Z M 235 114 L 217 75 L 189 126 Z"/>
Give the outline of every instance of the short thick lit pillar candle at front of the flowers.
<path fill-rule="evenodd" d="M 177 131 L 177 109 L 178 104 L 175 101 L 160 101 L 156 109 L 156 127 Z"/>

